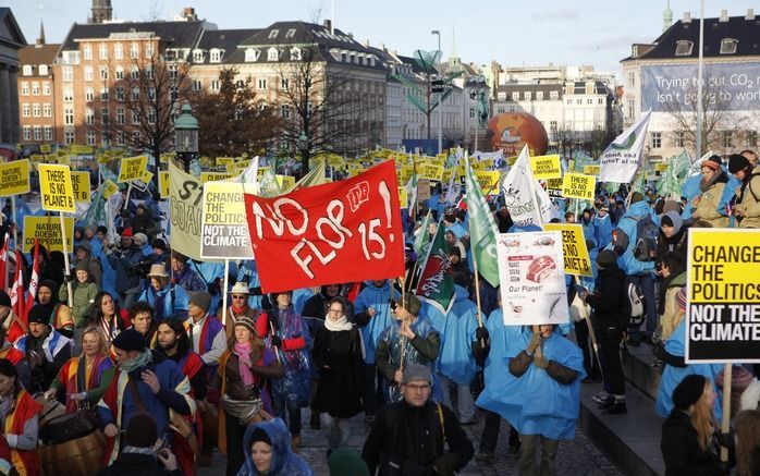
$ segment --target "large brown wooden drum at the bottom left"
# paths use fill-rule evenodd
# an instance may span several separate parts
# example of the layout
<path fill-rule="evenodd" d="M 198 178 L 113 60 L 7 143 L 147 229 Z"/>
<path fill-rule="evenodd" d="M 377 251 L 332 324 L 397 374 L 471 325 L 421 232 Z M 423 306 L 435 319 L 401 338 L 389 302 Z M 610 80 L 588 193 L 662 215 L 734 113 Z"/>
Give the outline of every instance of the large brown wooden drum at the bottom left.
<path fill-rule="evenodd" d="M 93 476 L 103 467 L 106 440 L 93 412 L 79 411 L 50 419 L 40 428 L 42 474 Z"/>

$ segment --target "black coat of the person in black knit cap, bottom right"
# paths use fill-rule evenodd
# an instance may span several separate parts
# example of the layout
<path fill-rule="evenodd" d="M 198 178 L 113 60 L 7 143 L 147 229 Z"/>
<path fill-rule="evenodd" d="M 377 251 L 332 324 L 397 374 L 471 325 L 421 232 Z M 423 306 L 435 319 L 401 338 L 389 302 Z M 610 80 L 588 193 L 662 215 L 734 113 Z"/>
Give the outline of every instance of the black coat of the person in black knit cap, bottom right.
<path fill-rule="evenodd" d="M 662 425 L 660 442 L 665 461 L 665 476 L 718 476 L 721 474 L 718 454 L 703 451 L 689 415 L 674 408 Z"/>

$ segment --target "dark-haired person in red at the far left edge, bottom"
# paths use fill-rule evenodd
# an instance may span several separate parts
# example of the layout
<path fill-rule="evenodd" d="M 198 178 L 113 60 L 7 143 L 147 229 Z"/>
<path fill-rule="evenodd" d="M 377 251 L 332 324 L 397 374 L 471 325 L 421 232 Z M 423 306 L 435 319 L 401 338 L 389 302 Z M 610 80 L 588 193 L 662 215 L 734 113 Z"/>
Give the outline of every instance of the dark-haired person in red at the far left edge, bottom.
<path fill-rule="evenodd" d="M 0 358 L 0 438 L 11 448 L 11 464 L 19 474 L 40 474 L 37 415 L 41 410 L 42 406 L 22 388 L 13 363 Z"/>

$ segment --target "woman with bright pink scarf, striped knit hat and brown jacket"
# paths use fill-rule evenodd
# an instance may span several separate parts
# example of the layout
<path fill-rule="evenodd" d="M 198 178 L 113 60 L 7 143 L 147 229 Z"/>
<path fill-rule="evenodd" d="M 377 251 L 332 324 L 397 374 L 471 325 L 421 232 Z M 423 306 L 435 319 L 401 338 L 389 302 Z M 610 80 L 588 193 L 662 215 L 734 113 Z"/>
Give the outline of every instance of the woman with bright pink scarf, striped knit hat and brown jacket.
<path fill-rule="evenodd" d="M 222 395 L 219 448 L 226 453 L 228 476 L 236 475 L 245 460 L 240 444 L 245 428 L 273 413 L 269 379 L 284 375 L 275 354 L 256 335 L 254 321 L 238 316 L 213 381 Z"/>

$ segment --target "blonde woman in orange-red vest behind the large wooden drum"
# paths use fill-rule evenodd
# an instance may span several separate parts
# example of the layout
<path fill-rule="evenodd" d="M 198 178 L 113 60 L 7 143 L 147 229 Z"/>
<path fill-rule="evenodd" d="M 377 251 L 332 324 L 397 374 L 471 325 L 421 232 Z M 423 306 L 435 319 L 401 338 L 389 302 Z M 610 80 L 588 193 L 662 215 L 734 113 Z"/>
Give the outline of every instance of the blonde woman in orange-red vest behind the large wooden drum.
<path fill-rule="evenodd" d="M 82 354 L 63 364 L 45 398 L 58 396 L 65 402 L 66 413 L 74 413 L 82 406 L 95 407 L 111 385 L 113 371 L 106 337 L 99 328 L 88 326 L 82 333 Z"/>

